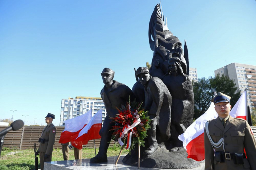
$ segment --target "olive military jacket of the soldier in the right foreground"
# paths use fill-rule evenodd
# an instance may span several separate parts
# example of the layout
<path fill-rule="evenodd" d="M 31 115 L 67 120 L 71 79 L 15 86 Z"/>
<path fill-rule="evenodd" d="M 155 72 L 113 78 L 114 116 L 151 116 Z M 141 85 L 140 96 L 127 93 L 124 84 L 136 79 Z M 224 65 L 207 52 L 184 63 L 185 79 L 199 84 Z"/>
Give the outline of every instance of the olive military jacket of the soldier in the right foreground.
<path fill-rule="evenodd" d="M 221 120 L 216 118 L 209 122 L 208 129 L 215 143 L 224 139 L 226 152 L 244 153 L 245 149 L 247 159 L 243 158 L 244 164 L 234 164 L 233 159 L 225 159 L 224 163 L 216 162 L 213 146 L 204 130 L 205 170 L 256 170 L 256 142 L 247 121 L 229 116 L 224 128 Z M 224 152 L 223 145 L 214 149 Z"/>

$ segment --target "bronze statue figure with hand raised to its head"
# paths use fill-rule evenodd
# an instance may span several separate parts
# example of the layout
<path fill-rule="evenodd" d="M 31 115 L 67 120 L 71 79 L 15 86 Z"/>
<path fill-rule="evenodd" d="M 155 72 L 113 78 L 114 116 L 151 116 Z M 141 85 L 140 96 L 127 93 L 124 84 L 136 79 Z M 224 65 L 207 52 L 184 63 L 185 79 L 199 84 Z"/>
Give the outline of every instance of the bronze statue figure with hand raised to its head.
<path fill-rule="evenodd" d="M 168 60 L 168 73 L 163 78 L 172 96 L 172 148 L 182 147 L 179 135 L 193 123 L 194 93 L 189 76 L 183 73 L 180 58 L 172 57 Z"/>

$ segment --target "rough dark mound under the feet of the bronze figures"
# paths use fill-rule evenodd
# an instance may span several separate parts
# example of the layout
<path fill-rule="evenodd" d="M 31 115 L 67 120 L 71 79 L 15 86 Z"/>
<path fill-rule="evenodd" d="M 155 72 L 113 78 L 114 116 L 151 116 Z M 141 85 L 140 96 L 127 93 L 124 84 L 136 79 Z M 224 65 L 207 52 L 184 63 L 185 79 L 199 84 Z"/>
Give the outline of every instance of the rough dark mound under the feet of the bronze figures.
<path fill-rule="evenodd" d="M 176 151 L 175 151 L 176 150 Z M 168 151 L 165 147 L 147 157 L 141 155 L 140 166 L 144 168 L 167 168 L 167 169 L 192 169 L 200 167 L 200 162 L 187 158 L 187 152 L 183 147 Z M 126 155 L 123 163 L 138 166 L 138 154 Z"/>

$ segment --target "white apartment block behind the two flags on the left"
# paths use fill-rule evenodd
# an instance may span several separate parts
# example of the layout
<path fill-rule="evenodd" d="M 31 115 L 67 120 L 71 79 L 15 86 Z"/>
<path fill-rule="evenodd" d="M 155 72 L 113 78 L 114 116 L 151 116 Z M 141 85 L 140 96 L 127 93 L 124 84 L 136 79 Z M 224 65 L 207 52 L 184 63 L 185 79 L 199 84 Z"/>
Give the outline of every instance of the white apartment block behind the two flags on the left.
<path fill-rule="evenodd" d="M 60 123 L 67 119 L 81 116 L 92 109 L 93 116 L 102 108 L 102 123 L 106 117 L 106 109 L 103 100 L 100 97 L 83 97 L 76 96 L 75 99 L 69 97 L 61 100 Z"/>

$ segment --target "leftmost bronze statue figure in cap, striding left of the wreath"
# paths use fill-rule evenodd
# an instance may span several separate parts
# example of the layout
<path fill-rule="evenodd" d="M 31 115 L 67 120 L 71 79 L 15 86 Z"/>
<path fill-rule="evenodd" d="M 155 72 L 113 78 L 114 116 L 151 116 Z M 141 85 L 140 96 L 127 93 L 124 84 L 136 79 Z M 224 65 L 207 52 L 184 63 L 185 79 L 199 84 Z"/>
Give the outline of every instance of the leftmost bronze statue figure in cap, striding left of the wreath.
<path fill-rule="evenodd" d="M 115 115 L 118 114 L 116 107 L 121 108 L 122 105 L 125 106 L 129 101 L 129 97 L 130 101 L 135 99 L 132 90 L 128 86 L 113 80 L 114 74 L 115 72 L 109 68 L 104 68 L 101 73 L 102 81 L 105 85 L 101 90 L 100 95 L 104 102 L 107 116 L 99 133 L 101 136 L 99 152 L 97 156 L 90 159 L 90 163 L 108 161 L 106 153 L 112 134 L 109 130 L 112 129 L 112 126 L 114 125 L 114 122 L 109 119 L 109 116 L 115 117 Z"/>

